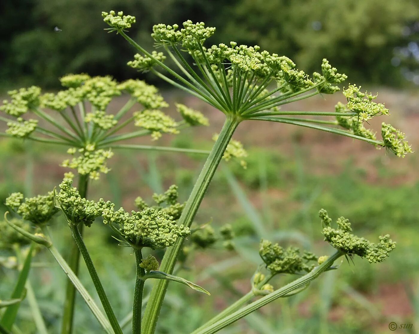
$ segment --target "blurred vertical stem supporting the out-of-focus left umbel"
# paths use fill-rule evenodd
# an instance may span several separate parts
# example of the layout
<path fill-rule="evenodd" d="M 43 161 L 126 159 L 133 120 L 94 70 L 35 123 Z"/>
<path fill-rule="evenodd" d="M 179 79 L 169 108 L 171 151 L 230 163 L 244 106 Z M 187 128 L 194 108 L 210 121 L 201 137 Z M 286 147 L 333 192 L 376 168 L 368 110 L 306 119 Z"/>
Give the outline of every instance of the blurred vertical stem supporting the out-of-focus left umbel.
<path fill-rule="evenodd" d="M 79 184 L 78 184 L 78 191 L 82 198 L 86 197 L 87 194 L 87 187 L 88 187 L 88 175 L 80 175 L 79 176 Z M 80 226 L 80 235 L 83 235 L 83 226 Z M 70 258 L 68 261 L 68 265 L 70 266 L 72 272 L 76 276 L 78 276 L 79 272 L 79 262 L 80 262 L 80 251 L 77 247 L 77 244 L 72 244 L 71 246 L 71 253 Z M 67 280 L 67 287 L 65 291 L 65 302 L 64 302 L 64 310 L 62 315 L 62 327 L 61 333 L 62 334 L 70 334 L 72 333 L 73 327 L 73 318 L 74 318 L 74 307 L 75 307 L 75 287 L 71 283 L 71 280 Z"/>

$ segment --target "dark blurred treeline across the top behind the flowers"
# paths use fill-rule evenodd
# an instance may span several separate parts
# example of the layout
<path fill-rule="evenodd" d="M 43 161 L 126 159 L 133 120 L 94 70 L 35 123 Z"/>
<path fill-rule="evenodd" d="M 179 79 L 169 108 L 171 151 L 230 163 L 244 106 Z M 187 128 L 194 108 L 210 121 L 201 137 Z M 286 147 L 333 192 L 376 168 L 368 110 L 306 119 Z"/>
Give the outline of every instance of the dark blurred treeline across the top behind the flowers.
<path fill-rule="evenodd" d="M 319 71 L 326 57 L 351 82 L 393 86 L 406 77 L 395 50 L 408 45 L 419 21 L 417 0 L 3 0 L 1 87 L 55 88 L 58 77 L 78 72 L 137 76 L 126 66 L 134 50 L 103 30 L 101 12 L 112 9 L 137 17 L 129 34 L 148 49 L 153 24 L 191 19 L 217 27 L 214 44 L 258 44 L 305 72 Z M 409 52 L 403 57 L 411 63 Z"/>

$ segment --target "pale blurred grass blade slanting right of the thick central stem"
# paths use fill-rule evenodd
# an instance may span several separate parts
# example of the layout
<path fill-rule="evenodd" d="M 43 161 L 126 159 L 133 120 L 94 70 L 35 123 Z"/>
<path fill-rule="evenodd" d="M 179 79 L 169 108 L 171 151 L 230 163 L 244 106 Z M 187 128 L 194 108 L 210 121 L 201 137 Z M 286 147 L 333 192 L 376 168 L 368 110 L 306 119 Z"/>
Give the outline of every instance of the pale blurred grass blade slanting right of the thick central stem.
<path fill-rule="evenodd" d="M 223 171 L 231 190 L 233 190 L 233 194 L 235 195 L 241 207 L 246 212 L 246 215 L 248 216 L 249 220 L 253 224 L 257 236 L 259 237 L 259 239 L 265 237 L 266 231 L 264 228 L 263 221 L 259 216 L 259 213 L 257 213 L 253 204 L 247 198 L 246 193 L 241 189 L 233 173 L 226 167 L 223 168 Z"/>

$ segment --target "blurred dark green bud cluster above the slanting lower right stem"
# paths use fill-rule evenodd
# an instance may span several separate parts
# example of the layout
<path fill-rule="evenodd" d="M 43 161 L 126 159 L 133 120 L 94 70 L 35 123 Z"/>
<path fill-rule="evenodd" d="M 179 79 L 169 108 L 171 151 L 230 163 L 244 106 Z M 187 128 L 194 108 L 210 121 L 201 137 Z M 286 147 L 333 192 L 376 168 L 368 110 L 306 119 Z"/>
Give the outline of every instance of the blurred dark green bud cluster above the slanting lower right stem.
<path fill-rule="evenodd" d="M 305 251 L 301 254 L 297 247 L 284 249 L 268 240 L 261 241 L 259 255 L 272 275 L 310 272 L 315 267 L 310 262 L 317 261 L 317 257 L 311 252 Z"/>

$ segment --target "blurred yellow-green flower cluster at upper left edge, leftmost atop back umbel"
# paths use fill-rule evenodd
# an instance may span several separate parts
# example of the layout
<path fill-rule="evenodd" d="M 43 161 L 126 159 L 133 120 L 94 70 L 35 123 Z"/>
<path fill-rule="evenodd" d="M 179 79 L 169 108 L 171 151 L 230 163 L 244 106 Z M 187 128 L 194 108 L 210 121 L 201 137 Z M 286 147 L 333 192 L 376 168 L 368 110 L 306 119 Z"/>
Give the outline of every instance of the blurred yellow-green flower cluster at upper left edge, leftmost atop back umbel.
<path fill-rule="evenodd" d="M 3 105 L 0 106 L 0 110 L 10 116 L 19 117 L 29 109 L 39 106 L 39 95 L 41 94 L 41 88 L 39 87 L 31 86 L 19 90 L 10 90 L 7 93 L 11 100 L 10 102 L 3 100 Z"/>

